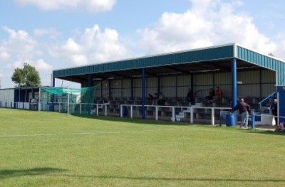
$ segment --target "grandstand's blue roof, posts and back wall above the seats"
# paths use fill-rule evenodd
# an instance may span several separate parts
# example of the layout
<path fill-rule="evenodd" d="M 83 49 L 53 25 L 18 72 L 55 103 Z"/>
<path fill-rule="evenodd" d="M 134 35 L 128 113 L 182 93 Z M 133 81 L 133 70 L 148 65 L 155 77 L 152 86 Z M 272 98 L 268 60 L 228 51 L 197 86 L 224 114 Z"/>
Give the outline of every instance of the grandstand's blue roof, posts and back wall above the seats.
<path fill-rule="evenodd" d="M 277 91 L 279 116 L 285 116 L 284 73 L 284 60 L 230 43 L 53 70 L 53 85 L 56 79 L 78 82 L 82 87 L 99 85 L 94 102 L 111 101 L 114 106 L 137 102 L 143 119 L 148 93 L 162 92 L 166 105 L 184 105 L 189 88 L 195 102 L 202 103 L 209 87 L 219 86 L 224 105 L 230 102 L 232 107 L 244 97 L 258 109 L 260 101 Z M 262 103 L 264 107 L 269 107 L 271 97 L 268 99 Z"/>

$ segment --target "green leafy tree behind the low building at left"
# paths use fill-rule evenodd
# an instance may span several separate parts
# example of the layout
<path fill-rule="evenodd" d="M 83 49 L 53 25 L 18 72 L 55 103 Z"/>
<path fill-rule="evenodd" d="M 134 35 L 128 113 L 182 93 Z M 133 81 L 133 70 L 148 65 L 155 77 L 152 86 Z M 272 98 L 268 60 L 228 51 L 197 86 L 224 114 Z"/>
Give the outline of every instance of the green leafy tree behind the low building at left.
<path fill-rule="evenodd" d="M 17 84 L 18 87 L 31 87 L 41 85 L 41 78 L 36 68 L 28 63 L 24 63 L 24 68 L 16 68 L 12 77 L 12 81 Z"/>

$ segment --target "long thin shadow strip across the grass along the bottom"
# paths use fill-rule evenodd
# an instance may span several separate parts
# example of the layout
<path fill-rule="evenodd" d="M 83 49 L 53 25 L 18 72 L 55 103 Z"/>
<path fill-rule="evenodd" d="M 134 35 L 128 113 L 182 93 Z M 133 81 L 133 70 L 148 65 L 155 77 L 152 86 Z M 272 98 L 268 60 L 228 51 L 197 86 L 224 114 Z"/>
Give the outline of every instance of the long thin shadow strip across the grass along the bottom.
<path fill-rule="evenodd" d="M 250 178 L 171 178 L 171 177 L 152 177 L 152 176 L 81 176 L 81 175 L 63 175 L 67 177 L 83 178 L 105 178 L 105 179 L 128 179 L 128 180 L 153 180 L 153 181 L 233 181 L 233 182 L 285 182 L 281 179 L 250 179 Z"/>

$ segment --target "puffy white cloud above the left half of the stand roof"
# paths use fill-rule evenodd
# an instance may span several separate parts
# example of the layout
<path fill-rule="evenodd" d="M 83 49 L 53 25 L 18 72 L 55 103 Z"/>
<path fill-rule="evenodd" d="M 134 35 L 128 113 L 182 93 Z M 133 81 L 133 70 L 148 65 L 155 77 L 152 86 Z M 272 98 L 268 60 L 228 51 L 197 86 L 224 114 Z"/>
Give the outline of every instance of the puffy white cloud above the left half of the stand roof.
<path fill-rule="evenodd" d="M 129 51 L 119 41 L 118 32 L 110 28 L 100 31 L 98 25 L 86 28 L 80 41 L 68 38 L 61 46 L 54 46 L 51 55 L 71 65 L 103 63 L 130 57 Z"/>

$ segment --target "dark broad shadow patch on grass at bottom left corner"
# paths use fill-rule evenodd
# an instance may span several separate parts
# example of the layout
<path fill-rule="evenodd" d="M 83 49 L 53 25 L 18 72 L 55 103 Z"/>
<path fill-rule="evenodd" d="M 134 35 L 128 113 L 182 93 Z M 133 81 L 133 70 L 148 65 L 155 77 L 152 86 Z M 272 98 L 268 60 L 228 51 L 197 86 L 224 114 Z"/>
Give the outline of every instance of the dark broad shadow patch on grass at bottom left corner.
<path fill-rule="evenodd" d="M 66 171 L 66 169 L 54 169 L 54 168 L 3 169 L 0 170 L 0 178 L 8 178 L 16 176 L 40 176 L 46 173 L 55 173 L 63 171 Z"/>

